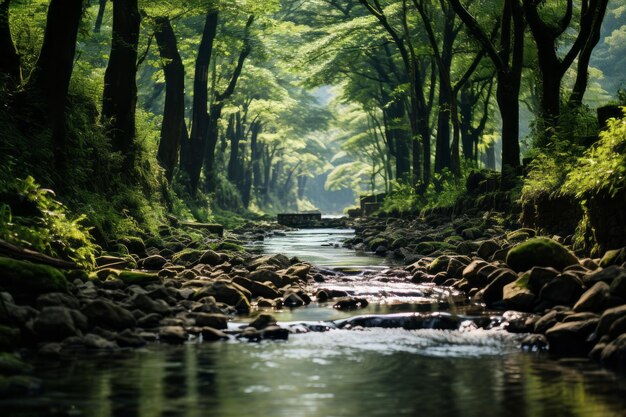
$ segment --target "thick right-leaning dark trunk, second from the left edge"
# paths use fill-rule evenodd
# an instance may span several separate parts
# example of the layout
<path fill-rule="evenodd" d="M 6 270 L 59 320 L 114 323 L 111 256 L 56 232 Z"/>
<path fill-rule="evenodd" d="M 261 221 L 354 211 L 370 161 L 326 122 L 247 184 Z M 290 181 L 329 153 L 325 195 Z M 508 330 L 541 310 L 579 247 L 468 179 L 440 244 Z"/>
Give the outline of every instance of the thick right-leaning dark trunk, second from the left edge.
<path fill-rule="evenodd" d="M 82 0 L 50 2 L 41 52 L 27 85 L 27 89 L 40 92 L 45 99 L 59 169 L 66 165 L 65 104 L 82 14 Z"/>

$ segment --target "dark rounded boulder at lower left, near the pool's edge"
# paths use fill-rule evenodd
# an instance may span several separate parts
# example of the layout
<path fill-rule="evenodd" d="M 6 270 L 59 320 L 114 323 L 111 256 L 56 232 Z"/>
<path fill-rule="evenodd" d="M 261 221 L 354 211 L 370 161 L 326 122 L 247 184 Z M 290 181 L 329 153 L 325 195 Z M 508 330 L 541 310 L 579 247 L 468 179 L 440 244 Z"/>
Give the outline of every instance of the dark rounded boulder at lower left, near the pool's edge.
<path fill-rule="evenodd" d="M 80 322 L 81 318 L 78 315 L 82 316 L 79 311 L 70 310 L 66 307 L 44 307 L 33 322 L 33 330 L 44 340 L 60 341 L 70 336 L 76 336 L 79 331 L 74 317 L 77 317 Z M 87 319 L 83 316 L 81 323 L 83 327 L 86 321 Z"/>

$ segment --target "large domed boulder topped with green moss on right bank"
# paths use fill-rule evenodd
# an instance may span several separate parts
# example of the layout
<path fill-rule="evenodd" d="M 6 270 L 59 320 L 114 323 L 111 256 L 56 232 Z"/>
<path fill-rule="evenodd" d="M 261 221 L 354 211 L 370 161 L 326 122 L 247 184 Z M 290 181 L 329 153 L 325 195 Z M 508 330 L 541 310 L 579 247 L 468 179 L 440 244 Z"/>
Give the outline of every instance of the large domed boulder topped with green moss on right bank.
<path fill-rule="evenodd" d="M 550 266 L 563 270 L 578 264 L 578 258 L 560 243 L 540 237 L 511 248 L 506 256 L 506 263 L 516 272 L 528 271 L 533 266 Z"/>

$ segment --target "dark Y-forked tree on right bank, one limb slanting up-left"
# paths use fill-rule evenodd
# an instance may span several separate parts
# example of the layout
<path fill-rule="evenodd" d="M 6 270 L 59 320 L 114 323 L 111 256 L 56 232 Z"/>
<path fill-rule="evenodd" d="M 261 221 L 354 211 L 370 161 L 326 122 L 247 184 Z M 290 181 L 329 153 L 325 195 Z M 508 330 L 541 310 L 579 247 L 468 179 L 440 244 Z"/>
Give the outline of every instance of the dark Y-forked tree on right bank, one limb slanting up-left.
<path fill-rule="evenodd" d="M 459 0 L 450 0 L 450 4 L 496 68 L 496 100 L 502 118 L 502 171 L 507 174 L 520 165 L 519 93 L 526 26 L 522 6 L 519 0 L 504 0 L 496 45 Z"/>

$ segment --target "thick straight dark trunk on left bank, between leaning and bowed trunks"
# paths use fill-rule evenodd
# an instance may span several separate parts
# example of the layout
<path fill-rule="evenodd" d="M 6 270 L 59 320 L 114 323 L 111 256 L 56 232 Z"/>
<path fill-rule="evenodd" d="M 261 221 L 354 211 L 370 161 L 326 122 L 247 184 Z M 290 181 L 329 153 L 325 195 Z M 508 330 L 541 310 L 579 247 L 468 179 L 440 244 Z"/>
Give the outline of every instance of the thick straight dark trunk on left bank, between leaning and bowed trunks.
<path fill-rule="evenodd" d="M 137 47 L 141 17 L 137 0 L 113 1 L 113 38 L 104 74 L 102 121 L 114 151 L 122 153 L 124 168 L 134 168 Z"/>

